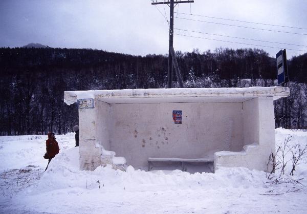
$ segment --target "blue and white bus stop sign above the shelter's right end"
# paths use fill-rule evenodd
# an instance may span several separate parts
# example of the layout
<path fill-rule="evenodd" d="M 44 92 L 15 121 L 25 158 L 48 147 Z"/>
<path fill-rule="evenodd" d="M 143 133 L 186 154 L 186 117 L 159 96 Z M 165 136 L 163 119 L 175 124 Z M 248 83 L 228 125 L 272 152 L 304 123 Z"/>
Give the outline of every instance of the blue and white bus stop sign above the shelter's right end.
<path fill-rule="evenodd" d="M 286 49 L 276 54 L 278 85 L 289 81 Z"/>

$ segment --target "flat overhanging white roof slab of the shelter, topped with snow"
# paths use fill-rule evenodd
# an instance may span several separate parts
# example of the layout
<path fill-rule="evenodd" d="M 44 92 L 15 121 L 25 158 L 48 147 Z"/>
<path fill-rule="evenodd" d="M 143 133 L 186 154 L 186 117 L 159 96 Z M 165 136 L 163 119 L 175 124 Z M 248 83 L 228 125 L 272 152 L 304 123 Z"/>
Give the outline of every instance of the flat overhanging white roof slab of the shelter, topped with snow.
<path fill-rule="evenodd" d="M 255 97 L 288 97 L 287 87 L 198 88 L 198 89 L 124 89 L 96 91 L 65 91 L 64 102 L 77 99 L 97 99 L 106 103 L 161 103 L 161 102 L 244 102 Z"/>

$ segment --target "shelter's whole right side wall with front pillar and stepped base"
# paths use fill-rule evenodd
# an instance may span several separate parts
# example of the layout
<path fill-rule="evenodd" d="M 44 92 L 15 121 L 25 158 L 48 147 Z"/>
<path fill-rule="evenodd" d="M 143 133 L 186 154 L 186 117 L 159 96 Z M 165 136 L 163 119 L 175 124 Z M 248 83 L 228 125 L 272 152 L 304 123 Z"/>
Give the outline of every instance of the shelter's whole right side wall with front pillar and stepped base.
<path fill-rule="evenodd" d="M 275 155 L 273 97 L 258 97 L 246 101 L 244 111 L 244 142 L 255 144 L 245 146 L 245 151 L 240 154 L 216 153 L 214 167 L 243 166 L 270 172 L 272 164 L 267 165 L 269 156 L 271 152 Z M 253 129 L 256 131 L 252 131 Z"/>

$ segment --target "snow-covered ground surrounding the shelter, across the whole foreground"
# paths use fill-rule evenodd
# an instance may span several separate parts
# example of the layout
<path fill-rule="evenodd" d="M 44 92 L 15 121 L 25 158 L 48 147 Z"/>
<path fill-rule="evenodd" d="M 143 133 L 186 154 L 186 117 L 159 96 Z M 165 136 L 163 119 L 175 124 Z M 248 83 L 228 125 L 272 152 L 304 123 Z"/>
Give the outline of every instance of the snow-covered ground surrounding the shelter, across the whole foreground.
<path fill-rule="evenodd" d="M 277 129 L 276 145 L 307 143 L 307 132 Z M 60 154 L 44 172 L 46 136 L 0 137 L 0 213 L 307 213 L 307 163 L 289 176 L 220 168 L 212 173 L 79 170 L 74 134 L 56 136 Z M 290 159 L 291 153 L 286 159 Z M 269 157 L 268 157 L 269 158 Z M 275 181 L 275 182 L 274 182 Z"/>

